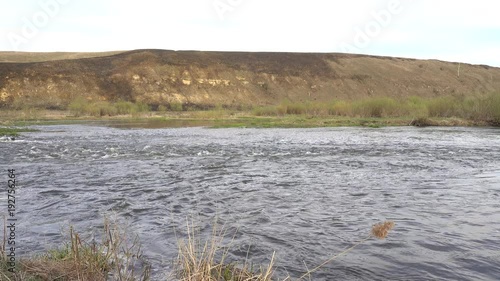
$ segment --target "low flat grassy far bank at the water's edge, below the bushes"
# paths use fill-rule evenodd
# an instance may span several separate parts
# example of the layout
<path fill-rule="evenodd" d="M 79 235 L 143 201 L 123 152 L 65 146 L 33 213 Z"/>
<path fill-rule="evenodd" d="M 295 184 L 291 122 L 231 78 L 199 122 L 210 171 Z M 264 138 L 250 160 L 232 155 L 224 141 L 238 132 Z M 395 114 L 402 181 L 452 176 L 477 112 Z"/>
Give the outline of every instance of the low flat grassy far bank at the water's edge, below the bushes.
<path fill-rule="evenodd" d="M 69 111 L 38 110 L 36 112 L 0 111 L 0 135 L 13 135 L 26 129 L 12 128 L 50 124 L 106 124 L 112 127 L 169 128 L 320 128 L 320 127 L 389 127 L 389 126 L 445 126 L 487 127 L 487 121 L 457 117 L 347 117 L 283 115 L 255 116 L 251 112 L 212 110 L 189 112 L 148 112 L 116 116 L 72 116 Z"/>

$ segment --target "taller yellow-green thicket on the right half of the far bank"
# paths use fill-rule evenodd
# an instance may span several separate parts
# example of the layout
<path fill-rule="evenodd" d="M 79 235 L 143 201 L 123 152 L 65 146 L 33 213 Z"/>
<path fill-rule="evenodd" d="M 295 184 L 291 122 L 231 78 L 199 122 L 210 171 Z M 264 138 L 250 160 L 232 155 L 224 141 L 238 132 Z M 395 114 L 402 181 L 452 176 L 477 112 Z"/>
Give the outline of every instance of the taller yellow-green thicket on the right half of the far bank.
<path fill-rule="evenodd" d="M 462 118 L 465 120 L 500 123 L 500 93 L 484 98 L 416 96 L 394 99 L 374 97 L 361 100 L 335 100 L 330 103 L 283 102 L 280 105 L 257 107 L 255 116 L 305 115 L 313 117 L 341 116 L 356 118 Z"/>

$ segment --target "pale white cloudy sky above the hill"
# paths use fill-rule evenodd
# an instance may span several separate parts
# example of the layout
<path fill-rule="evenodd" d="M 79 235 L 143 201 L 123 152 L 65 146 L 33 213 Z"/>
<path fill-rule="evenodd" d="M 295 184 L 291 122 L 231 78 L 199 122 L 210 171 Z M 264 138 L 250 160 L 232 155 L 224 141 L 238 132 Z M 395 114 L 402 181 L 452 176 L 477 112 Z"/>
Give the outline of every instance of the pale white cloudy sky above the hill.
<path fill-rule="evenodd" d="M 500 66 L 497 0 L 0 0 L 0 51 L 353 52 Z"/>

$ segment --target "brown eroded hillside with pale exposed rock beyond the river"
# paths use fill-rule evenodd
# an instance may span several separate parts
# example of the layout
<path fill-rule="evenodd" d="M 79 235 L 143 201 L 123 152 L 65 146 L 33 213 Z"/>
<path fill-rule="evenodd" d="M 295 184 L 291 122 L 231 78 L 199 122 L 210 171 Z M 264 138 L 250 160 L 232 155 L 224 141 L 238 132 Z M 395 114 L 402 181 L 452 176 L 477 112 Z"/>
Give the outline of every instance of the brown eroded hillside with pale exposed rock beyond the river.
<path fill-rule="evenodd" d="M 461 64 L 458 69 L 457 63 L 346 54 L 139 50 L 0 63 L 0 107 L 64 109 L 77 97 L 206 107 L 500 90 L 499 68 Z"/>

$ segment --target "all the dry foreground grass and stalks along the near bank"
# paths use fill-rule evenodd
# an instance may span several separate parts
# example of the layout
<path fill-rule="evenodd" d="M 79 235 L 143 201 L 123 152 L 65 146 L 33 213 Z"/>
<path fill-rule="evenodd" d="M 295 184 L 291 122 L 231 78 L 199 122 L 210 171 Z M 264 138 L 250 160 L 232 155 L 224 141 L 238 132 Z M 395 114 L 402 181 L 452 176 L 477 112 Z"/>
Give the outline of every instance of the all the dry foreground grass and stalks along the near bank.
<path fill-rule="evenodd" d="M 5 221 L 4 221 L 5 224 Z M 350 248 L 332 256 L 318 266 L 308 269 L 299 280 L 311 280 L 312 273 L 340 256 L 347 254 L 371 238 L 385 239 L 394 223 L 386 221 L 373 225 L 365 239 Z M 214 223 L 211 236 L 203 240 L 194 223 L 187 224 L 187 239 L 178 240 L 178 258 L 173 272 L 166 274 L 179 281 L 271 281 L 277 280 L 275 254 L 269 263 L 258 269 L 245 261 L 227 262 L 233 239 L 228 243 L 226 230 Z M 21 259 L 16 264 L 15 273 L 9 271 L 4 243 L 0 248 L 0 280 L 4 281 L 147 281 L 150 280 L 151 266 L 142 254 L 137 236 L 131 239 L 129 232 L 119 226 L 118 221 L 105 219 L 104 232 L 100 242 L 84 241 L 72 227 L 66 245 L 49 250 L 46 254 Z M 283 280 L 292 280 L 290 276 Z"/>

